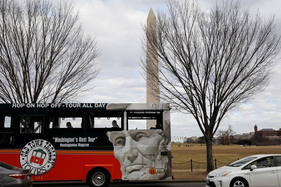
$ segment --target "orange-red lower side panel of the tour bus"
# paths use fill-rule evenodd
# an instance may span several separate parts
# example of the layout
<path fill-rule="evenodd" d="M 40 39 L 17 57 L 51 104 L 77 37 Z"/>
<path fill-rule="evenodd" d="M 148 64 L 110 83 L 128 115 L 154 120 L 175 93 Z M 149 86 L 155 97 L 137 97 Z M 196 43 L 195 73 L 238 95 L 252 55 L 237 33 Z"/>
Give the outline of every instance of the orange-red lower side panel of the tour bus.
<path fill-rule="evenodd" d="M 21 168 L 20 161 L 19 161 L 20 151 L 21 150 L 1 150 L 0 161 Z M 32 175 L 33 180 L 34 181 L 55 181 L 55 180 L 85 181 L 87 173 L 92 168 L 97 166 L 106 168 L 110 172 L 111 180 L 122 178 L 120 163 L 113 154 L 108 154 L 108 155 L 87 154 L 87 151 L 83 151 L 85 152 L 84 154 L 72 154 L 70 152 L 73 151 L 69 151 L 69 153 L 64 153 L 64 154 L 57 153 L 57 159 L 52 169 L 43 175 L 38 175 L 38 176 Z M 30 168 L 26 168 L 26 169 L 30 169 Z M 31 172 L 32 174 L 34 174 L 36 170 L 32 170 Z"/>

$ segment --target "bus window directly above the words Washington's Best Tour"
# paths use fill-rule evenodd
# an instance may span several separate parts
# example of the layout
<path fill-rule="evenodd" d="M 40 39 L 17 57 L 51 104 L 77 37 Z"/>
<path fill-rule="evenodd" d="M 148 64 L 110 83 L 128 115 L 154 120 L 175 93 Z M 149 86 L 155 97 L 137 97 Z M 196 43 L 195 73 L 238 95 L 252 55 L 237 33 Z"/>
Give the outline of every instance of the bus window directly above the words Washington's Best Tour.
<path fill-rule="evenodd" d="M 52 111 L 49 114 L 49 128 L 81 128 L 84 122 L 82 111 Z"/>

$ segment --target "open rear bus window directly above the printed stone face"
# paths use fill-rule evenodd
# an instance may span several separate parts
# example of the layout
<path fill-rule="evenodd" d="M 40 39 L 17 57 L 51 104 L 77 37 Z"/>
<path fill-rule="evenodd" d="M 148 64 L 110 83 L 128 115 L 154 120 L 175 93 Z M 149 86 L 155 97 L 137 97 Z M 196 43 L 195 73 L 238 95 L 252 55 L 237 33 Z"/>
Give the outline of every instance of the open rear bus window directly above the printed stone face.
<path fill-rule="evenodd" d="M 163 129 L 162 111 L 127 111 L 127 129 Z"/>

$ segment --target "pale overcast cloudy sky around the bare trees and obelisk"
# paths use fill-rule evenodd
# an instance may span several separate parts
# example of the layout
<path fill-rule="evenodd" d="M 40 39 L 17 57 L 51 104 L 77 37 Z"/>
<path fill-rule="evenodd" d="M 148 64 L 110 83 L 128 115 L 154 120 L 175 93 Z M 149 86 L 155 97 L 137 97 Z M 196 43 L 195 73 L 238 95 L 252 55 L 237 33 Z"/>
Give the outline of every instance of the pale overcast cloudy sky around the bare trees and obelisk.
<path fill-rule="evenodd" d="M 220 0 L 218 0 L 220 1 Z M 166 10 L 165 0 L 74 0 L 80 11 L 85 33 L 96 36 L 102 55 L 97 59 L 101 73 L 94 82 L 95 89 L 80 99 L 83 103 L 145 103 L 146 84 L 138 65 L 141 56 L 141 24 L 152 7 L 156 14 Z M 209 0 L 199 0 L 210 7 Z M 214 2 L 214 1 L 213 1 Z M 280 0 L 242 0 L 242 5 L 264 17 L 276 16 L 277 31 L 281 33 Z M 219 129 L 232 125 L 237 134 L 263 128 L 281 128 L 281 62 L 266 90 L 229 114 Z M 171 134 L 174 136 L 203 136 L 191 115 L 171 114 Z"/>

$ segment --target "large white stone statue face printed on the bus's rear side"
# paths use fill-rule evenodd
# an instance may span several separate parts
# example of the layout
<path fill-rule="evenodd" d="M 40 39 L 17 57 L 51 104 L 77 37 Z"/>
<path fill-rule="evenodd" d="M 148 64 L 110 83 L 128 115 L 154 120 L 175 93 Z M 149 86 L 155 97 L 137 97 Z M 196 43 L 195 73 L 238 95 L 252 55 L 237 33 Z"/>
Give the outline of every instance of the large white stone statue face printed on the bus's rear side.
<path fill-rule="evenodd" d="M 170 152 L 170 141 L 165 131 L 124 130 L 107 132 L 107 136 L 113 144 L 114 156 L 120 162 L 123 180 L 170 177 L 168 156 L 161 156 L 161 152 Z M 164 173 L 151 175 L 148 171 L 150 167 L 164 169 Z"/>

